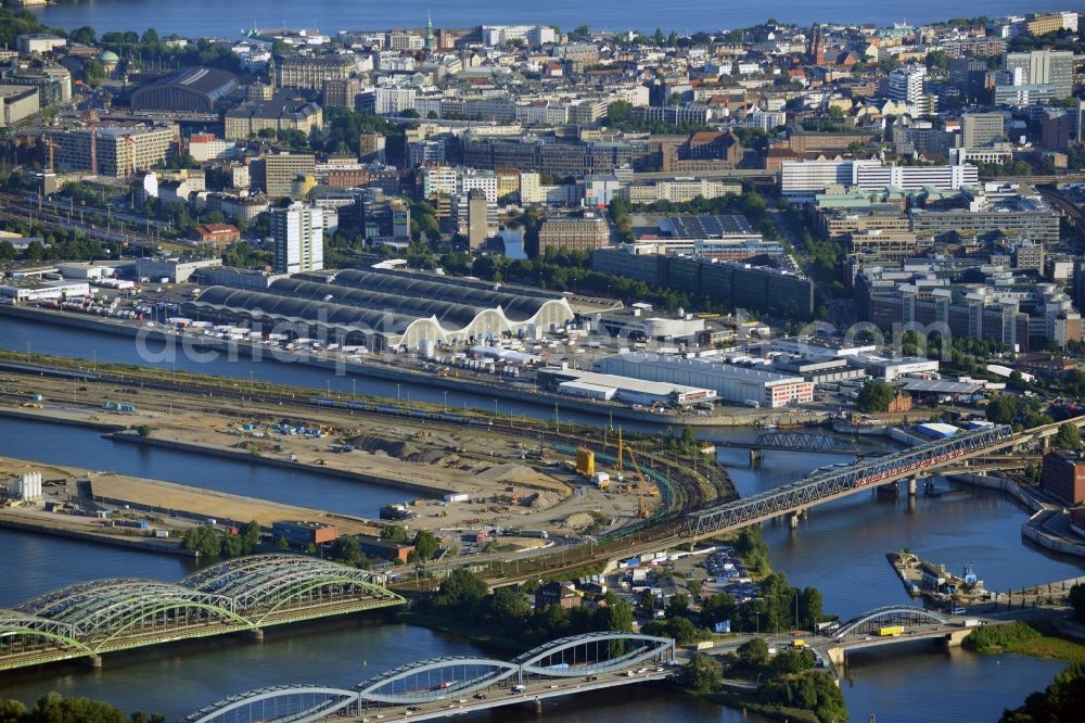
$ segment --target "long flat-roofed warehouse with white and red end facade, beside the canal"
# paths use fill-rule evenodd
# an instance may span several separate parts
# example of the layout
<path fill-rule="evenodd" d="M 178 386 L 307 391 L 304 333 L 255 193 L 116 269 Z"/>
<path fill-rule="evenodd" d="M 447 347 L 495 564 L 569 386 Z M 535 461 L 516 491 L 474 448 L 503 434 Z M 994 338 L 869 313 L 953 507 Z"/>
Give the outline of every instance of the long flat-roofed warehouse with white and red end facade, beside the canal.
<path fill-rule="evenodd" d="M 646 381 L 711 389 L 725 402 L 757 402 L 764 407 L 814 401 L 814 383 L 802 377 L 720 364 L 707 358 L 633 352 L 597 359 L 595 370 Z"/>

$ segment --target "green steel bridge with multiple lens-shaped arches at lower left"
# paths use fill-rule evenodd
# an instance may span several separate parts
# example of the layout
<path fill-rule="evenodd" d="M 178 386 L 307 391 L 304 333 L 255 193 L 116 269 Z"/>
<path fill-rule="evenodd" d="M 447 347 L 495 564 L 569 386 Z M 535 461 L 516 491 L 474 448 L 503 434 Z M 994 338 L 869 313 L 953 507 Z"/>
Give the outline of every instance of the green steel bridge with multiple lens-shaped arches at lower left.
<path fill-rule="evenodd" d="M 257 555 L 179 583 L 76 583 L 0 609 L 0 670 L 403 604 L 383 582 L 299 555 Z"/>

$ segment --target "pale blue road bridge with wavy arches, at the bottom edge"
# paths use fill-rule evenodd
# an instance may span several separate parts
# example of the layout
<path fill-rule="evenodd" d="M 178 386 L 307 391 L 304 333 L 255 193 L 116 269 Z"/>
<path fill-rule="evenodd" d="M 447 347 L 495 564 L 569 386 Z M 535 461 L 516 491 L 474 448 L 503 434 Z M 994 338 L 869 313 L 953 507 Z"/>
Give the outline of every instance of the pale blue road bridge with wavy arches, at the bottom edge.
<path fill-rule="evenodd" d="M 635 633 L 563 637 L 512 660 L 452 657 L 403 665 L 354 688 L 281 685 L 232 696 L 181 723 L 425 721 L 658 681 L 674 674 L 675 643 Z"/>

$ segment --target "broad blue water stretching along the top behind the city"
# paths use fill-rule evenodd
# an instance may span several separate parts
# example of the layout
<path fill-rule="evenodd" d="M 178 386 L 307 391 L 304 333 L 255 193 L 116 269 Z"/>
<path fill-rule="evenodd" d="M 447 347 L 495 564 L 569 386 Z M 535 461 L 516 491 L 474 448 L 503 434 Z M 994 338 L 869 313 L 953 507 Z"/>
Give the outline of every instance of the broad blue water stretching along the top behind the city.
<path fill-rule="evenodd" d="M 153 27 L 159 35 L 233 38 L 242 28 L 306 27 L 327 34 L 361 28 L 421 27 L 426 13 L 436 27 L 474 25 L 544 24 L 569 30 L 582 24 L 612 30 L 697 33 L 748 27 L 773 17 L 803 25 L 814 22 L 927 23 L 949 17 L 997 16 L 1007 13 L 1054 11 L 1074 3 L 1036 0 L 963 0 L 944 5 L 934 0 L 915 0 L 907 5 L 865 0 L 764 0 L 756 3 L 686 0 L 676 9 L 656 0 L 550 0 L 544 5 L 471 0 L 433 2 L 400 0 L 391 5 L 375 0 L 309 0 L 283 3 L 271 0 L 84 0 L 49 5 L 35 12 L 47 25 L 72 29 L 90 25 L 103 30 L 138 30 Z"/>

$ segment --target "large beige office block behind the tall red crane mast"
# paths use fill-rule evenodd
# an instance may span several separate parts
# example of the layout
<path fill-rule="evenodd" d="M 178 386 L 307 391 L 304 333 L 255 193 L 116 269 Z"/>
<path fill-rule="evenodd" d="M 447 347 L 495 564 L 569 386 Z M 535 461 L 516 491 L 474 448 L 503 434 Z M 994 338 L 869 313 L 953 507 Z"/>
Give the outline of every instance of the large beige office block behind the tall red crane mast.
<path fill-rule="evenodd" d="M 49 134 L 58 168 L 127 178 L 166 160 L 177 141 L 174 127 L 106 126 Z"/>

